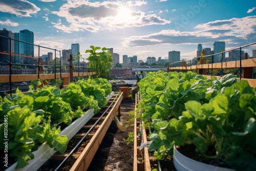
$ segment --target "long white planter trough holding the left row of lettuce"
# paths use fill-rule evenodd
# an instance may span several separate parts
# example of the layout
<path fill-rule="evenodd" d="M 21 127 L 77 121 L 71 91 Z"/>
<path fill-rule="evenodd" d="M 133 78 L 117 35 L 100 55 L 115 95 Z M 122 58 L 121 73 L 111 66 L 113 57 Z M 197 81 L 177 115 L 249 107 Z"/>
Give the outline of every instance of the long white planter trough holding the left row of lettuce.
<path fill-rule="evenodd" d="M 112 92 L 106 99 L 109 101 L 111 97 L 114 95 L 114 92 Z M 94 116 L 94 110 L 89 109 L 82 115 L 80 118 L 77 118 L 74 122 L 72 122 L 69 126 L 67 126 L 65 129 L 61 131 L 59 135 L 67 135 L 68 139 L 70 140 L 81 128 L 83 125 L 85 125 L 93 116 Z M 28 165 L 26 165 L 23 168 L 15 169 L 17 162 L 9 166 L 5 171 L 36 171 L 38 170 L 47 160 L 49 160 L 56 151 L 54 151 L 54 148 L 51 148 L 46 142 L 39 146 L 37 151 L 34 151 L 34 159 L 28 161 Z"/>

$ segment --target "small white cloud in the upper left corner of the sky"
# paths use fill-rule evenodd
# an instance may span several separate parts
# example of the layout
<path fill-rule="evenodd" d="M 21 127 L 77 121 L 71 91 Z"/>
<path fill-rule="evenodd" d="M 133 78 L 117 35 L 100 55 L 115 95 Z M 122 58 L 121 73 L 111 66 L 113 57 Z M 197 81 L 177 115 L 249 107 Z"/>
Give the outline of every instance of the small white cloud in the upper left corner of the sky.
<path fill-rule="evenodd" d="M 36 5 L 23 0 L 0 1 L 0 11 L 15 14 L 17 16 L 30 17 L 40 11 Z"/>

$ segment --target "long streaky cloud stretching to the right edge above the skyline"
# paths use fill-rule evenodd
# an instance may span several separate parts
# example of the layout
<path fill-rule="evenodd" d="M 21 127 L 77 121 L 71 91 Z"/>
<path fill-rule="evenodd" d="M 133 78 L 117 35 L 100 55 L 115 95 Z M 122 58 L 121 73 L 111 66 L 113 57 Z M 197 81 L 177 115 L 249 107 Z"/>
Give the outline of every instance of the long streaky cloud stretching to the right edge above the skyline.
<path fill-rule="evenodd" d="M 180 32 L 162 30 L 144 36 L 125 38 L 126 47 L 152 46 L 159 44 L 185 45 L 226 41 L 227 44 L 246 45 L 251 39 L 256 39 L 256 16 L 216 20 L 195 27 L 198 31 Z"/>

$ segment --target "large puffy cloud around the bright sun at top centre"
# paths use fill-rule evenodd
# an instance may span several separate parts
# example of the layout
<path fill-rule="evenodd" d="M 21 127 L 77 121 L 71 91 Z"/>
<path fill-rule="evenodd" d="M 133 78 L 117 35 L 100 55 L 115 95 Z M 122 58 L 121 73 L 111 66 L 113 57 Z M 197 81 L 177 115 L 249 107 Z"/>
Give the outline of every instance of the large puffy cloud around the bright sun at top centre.
<path fill-rule="evenodd" d="M 135 1 L 135 4 L 146 3 Z M 115 30 L 125 27 L 142 27 L 148 25 L 165 25 L 170 21 L 163 19 L 156 14 L 146 15 L 142 11 L 132 11 L 129 7 L 123 6 L 120 2 L 89 2 L 89 1 L 68 1 L 60 7 L 59 11 L 53 14 L 64 17 L 69 25 L 52 23 L 53 27 L 62 32 L 87 30 L 98 32 L 99 30 Z"/>

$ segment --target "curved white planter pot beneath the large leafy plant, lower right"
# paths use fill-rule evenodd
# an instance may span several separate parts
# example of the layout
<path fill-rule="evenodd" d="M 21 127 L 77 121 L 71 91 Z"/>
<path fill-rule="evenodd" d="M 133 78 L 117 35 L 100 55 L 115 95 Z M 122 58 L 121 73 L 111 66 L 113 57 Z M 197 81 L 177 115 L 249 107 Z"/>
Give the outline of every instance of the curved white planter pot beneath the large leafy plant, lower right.
<path fill-rule="evenodd" d="M 190 159 L 181 154 L 174 145 L 174 166 L 177 171 L 235 171 L 234 169 L 219 167 L 218 165 L 205 164 L 193 159 Z"/>

